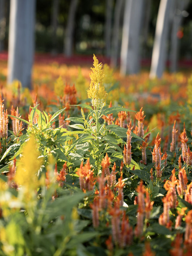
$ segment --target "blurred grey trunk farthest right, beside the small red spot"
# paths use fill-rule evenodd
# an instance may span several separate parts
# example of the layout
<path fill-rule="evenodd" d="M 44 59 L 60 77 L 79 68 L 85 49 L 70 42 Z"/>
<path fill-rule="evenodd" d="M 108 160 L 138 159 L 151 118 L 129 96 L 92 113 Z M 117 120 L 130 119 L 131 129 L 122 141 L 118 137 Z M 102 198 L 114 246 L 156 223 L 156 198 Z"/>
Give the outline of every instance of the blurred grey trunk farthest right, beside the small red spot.
<path fill-rule="evenodd" d="M 182 11 L 189 4 L 188 0 L 176 0 L 174 6 L 174 14 L 173 14 L 173 25 L 171 31 L 171 46 L 170 46 L 170 72 L 177 71 L 177 61 L 178 61 L 178 52 L 179 52 L 179 39 L 182 38 L 182 31 L 180 31 L 180 35 L 178 35 L 180 26 L 182 25 L 183 15 Z"/>

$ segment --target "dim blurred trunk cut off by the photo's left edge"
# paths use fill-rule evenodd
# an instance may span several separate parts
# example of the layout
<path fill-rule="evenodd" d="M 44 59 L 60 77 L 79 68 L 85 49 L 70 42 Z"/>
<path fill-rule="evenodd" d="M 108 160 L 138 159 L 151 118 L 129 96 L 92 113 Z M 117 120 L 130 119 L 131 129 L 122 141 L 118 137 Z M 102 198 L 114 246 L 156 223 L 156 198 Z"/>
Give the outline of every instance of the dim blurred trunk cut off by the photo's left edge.
<path fill-rule="evenodd" d="M 0 0 L 0 52 L 4 50 L 6 31 L 5 0 Z"/>

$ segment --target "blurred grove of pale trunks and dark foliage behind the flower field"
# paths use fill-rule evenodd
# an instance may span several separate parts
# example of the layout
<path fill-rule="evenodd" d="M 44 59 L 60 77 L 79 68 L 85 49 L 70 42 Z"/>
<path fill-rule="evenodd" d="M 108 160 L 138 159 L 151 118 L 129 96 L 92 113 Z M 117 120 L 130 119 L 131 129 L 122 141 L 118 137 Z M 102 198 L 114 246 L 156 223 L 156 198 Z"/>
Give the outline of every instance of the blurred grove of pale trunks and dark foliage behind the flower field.
<path fill-rule="evenodd" d="M 191 11 L 192 0 L 0 0 L 0 82 L 32 88 L 34 59 L 90 66 L 93 53 L 121 76 L 190 69 Z"/>

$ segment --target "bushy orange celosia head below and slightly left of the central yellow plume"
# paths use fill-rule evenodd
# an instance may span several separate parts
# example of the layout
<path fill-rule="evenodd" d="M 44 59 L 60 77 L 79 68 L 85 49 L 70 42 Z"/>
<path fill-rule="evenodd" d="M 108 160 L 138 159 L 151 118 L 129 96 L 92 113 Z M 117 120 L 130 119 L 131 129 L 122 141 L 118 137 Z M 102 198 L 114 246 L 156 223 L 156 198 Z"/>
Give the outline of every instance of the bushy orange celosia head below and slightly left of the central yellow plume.
<path fill-rule="evenodd" d="M 90 191 L 95 185 L 95 177 L 93 170 L 91 170 L 92 165 L 89 164 L 89 158 L 86 164 L 83 166 L 83 161 L 81 162 L 80 168 L 77 170 L 76 174 L 79 176 L 79 184 L 82 191 Z"/>

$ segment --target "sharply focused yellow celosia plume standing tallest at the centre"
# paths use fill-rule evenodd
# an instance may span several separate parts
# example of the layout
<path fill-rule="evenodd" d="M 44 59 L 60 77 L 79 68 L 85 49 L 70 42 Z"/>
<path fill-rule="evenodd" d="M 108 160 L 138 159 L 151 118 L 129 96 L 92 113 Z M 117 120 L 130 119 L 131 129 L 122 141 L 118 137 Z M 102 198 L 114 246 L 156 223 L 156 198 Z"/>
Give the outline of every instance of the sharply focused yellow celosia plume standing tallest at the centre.
<path fill-rule="evenodd" d="M 88 98 L 91 99 L 92 106 L 96 107 L 104 107 L 107 99 L 107 92 L 105 92 L 105 88 L 103 86 L 103 64 L 98 62 L 95 54 L 93 55 L 93 65 L 94 68 L 91 68 L 92 72 L 90 74 L 91 83 L 90 87 L 87 90 Z"/>

